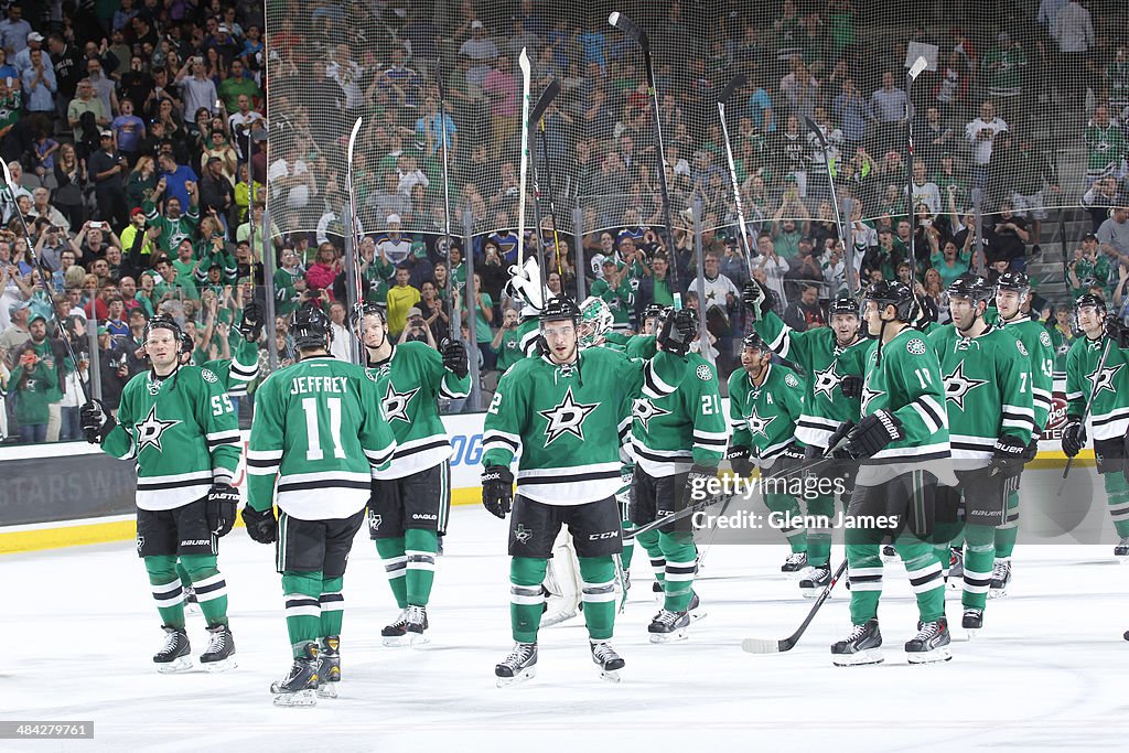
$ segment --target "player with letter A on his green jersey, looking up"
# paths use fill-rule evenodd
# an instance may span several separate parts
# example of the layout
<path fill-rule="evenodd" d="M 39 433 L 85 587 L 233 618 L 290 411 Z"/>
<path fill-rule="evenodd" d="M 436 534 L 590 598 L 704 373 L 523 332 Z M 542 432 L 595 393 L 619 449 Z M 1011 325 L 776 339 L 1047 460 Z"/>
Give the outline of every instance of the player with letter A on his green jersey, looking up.
<path fill-rule="evenodd" d="M 742 341 L 741 365 L 744 368 L 729 375 L 728 384 L 733 440 L 726 457 L 733 463 L 733 470 L 747 476 L 755 463 L 763 476 L 770 470 L 779 473 L 798 465 L 804 459 L 804 448 L 796 441 L 795 429 L 805 411 L 799 377 L 786 366 L 772 364 L 772 349 L 756 332 L 750 332 Z M 802 514 L 799 501 L 790 493 L 765 489 L 764 504 L 778 515 L 788 513 L 794 520 Z M 828 509 L 823 514 L 830 516 L 832 511 Z M 817 513 L 811 509 L 811 514 Z M 795 524 L 785 535 L 791 545 L 791 555 L 780 570 L 796 572 L 807 561 L 807 532 Z M 823 569 L 829 569 L 830 544 L 829 533 L 823 559 L 816 560 Z M 803 588 L 814 586 L 808 584 Z"/>

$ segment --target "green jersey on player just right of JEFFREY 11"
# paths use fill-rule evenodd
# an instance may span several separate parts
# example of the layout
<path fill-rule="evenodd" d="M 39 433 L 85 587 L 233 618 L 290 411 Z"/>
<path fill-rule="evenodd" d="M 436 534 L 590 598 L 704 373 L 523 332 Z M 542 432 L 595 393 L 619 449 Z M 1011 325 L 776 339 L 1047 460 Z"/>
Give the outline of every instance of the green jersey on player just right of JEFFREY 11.
<path fill-rule="evenodd" d="M 401 479 L 435 467 L 450 457 L 450 440 L 439 418 L 439 399 L 466 397 L 471 376 L 460 379 L 443 366 L 443 356 L 423 342 L 393 345 L 386 361 L 373 364 L 384 418 L 396 438 L 392 464 L 376 473 Z"/>

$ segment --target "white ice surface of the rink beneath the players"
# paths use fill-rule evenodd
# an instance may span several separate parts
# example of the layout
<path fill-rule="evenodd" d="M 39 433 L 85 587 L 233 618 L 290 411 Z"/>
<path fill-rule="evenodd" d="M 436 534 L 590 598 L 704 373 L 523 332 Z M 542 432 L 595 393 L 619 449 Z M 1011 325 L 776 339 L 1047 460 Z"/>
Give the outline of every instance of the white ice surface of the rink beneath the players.
<path fill-rule="evenodd" d="M 684 642 L 653 646 L 646 553 L 616 619 L 623 682 L 599 680 L 580 619 L 542 631 L 539 675 L 495 688 L 510 648 L 506 524 L 455 508 L 429 607 L 431 642 L 380 645 L 397 610 L 367 535 L 345 576 L 341 698 L 278 709 L 290 666 L 272 550 L 236 529 L 222 545 L 238 668 L 158 675 L 163 633 L 132 542 L 0 558 L 0 719 L 94 720 L 95 739 L 0 742 L 0 751 L 1012 751 L 1129 750 L 1129 564 L 1109 546 L 1023 546 L 1010 595 L 948 664 L 908 666 L 916 608 L 887 567 L 886 663 L 831 666 L 849 630 L 843 584 L 793 651 L 753 656 L 741 639 L 784 637 L 809 608 L 779 572 L 780 546 L 715 546 L 698 592 L 708 616 Z M 841 557 L 837 546 L 834 558 Z M 948 594 L 960 623 L 959 595 Z M 189 618 L 193 654 L 202 619 Z"/>

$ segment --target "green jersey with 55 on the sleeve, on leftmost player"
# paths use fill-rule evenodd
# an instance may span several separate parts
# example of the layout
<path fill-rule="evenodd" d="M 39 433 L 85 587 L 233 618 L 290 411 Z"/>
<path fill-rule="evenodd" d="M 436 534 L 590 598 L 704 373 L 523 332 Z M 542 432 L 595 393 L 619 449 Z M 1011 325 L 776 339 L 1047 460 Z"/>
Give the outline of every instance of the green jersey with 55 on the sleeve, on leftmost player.
<path fill-rule="evenodd" d="M 102 448 L 138 469 L 137 504 L 170 510 L 231 483 L 239 463 L 239 426 L 219 377 L 182 366 L 158 379 L 138 374 L 122 389 L 117 426 Z"/>

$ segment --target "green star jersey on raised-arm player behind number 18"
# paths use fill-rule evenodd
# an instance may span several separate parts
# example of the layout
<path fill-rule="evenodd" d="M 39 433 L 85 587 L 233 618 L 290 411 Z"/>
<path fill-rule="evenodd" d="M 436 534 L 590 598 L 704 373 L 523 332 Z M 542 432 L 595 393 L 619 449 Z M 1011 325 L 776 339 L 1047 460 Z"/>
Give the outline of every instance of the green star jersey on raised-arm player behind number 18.
<path fill-rule="evenodd" d="M 844 376 L 863 376 L 866 353 L 874 347 L 874 340 L 857 340 L 841 348 L 831 327 L 797 332 L 774 312 L 767 312 L 753 327 L 774 353 L 796 364 L 807 375 L 804 414 L 795 417 L 794 421 L 797 439 L 805 445 L 826 448 L 840 423 L 858 422 L 859 400 L 843 395 L 839 385 Z"/>

